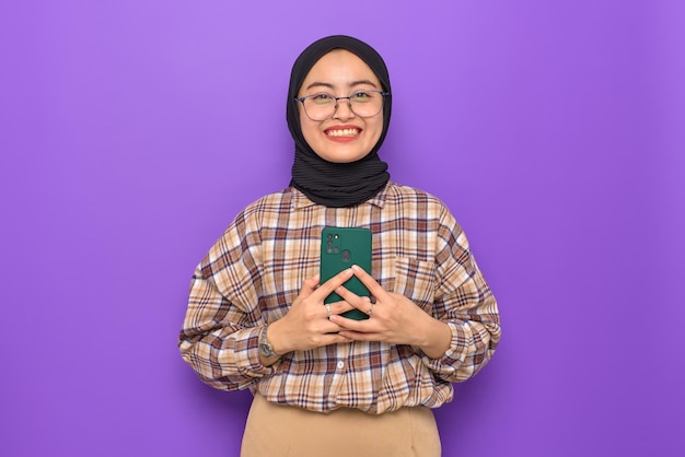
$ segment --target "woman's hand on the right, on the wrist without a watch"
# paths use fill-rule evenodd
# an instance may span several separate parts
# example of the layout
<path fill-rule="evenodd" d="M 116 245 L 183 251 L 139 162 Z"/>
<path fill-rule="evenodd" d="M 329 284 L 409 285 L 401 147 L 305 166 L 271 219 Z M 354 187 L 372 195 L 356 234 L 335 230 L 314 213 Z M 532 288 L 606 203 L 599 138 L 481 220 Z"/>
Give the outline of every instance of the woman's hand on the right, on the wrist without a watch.
<path fill-rule="evenodd" d="M 341 330 L 339 336 L 359 341 L 385 341 L 394 344 L 411 344 L 421 348 L 429 358 L 438 359 L 450 348 L 452 331 L 445 323 L 434 319 L 406 296 L 386 292 L 369 273 L 352 267 L 357 278 L 375 298 L 360 297 L 344 286 L 335 292 L 357 309 L 369 314 L 367 320 L 330 317 Z"/>

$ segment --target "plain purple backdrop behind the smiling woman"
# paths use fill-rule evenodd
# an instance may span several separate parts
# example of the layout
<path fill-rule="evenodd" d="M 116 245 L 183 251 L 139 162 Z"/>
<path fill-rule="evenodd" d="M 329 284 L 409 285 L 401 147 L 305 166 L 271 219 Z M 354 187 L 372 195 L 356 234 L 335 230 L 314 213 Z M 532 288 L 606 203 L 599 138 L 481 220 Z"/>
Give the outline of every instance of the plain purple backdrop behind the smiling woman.
<path fill-rule="evenodd" d="M 500 303 L 444 455 L 682 448 L 682 4 L 3 1 L 0 454 L 239 455 L 249 394 L 176 336 L 197 262 L 288 184 L 290 66 L 334 33 L 386 59 L 381 155 Z"/>

